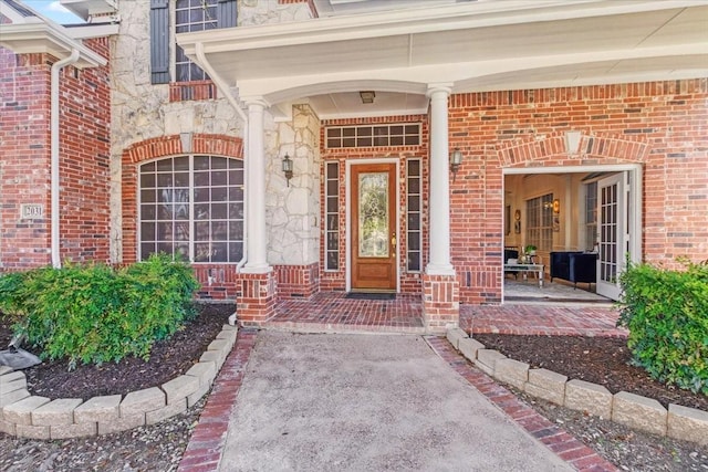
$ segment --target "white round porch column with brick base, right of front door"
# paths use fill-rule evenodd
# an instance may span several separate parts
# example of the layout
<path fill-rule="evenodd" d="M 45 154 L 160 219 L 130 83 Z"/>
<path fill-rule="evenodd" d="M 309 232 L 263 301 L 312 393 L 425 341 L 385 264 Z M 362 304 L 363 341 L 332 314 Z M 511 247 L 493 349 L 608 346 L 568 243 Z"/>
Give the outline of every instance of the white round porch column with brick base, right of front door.
<path fill-rule="evenodd" d="M 459 325 L 459 283 L 450 263 L 450 183 L 448 143 L 449 84 L 428 86 L 430 97 L 430 258 L 423 275 L 426 329 L 442 333 Z"/>

